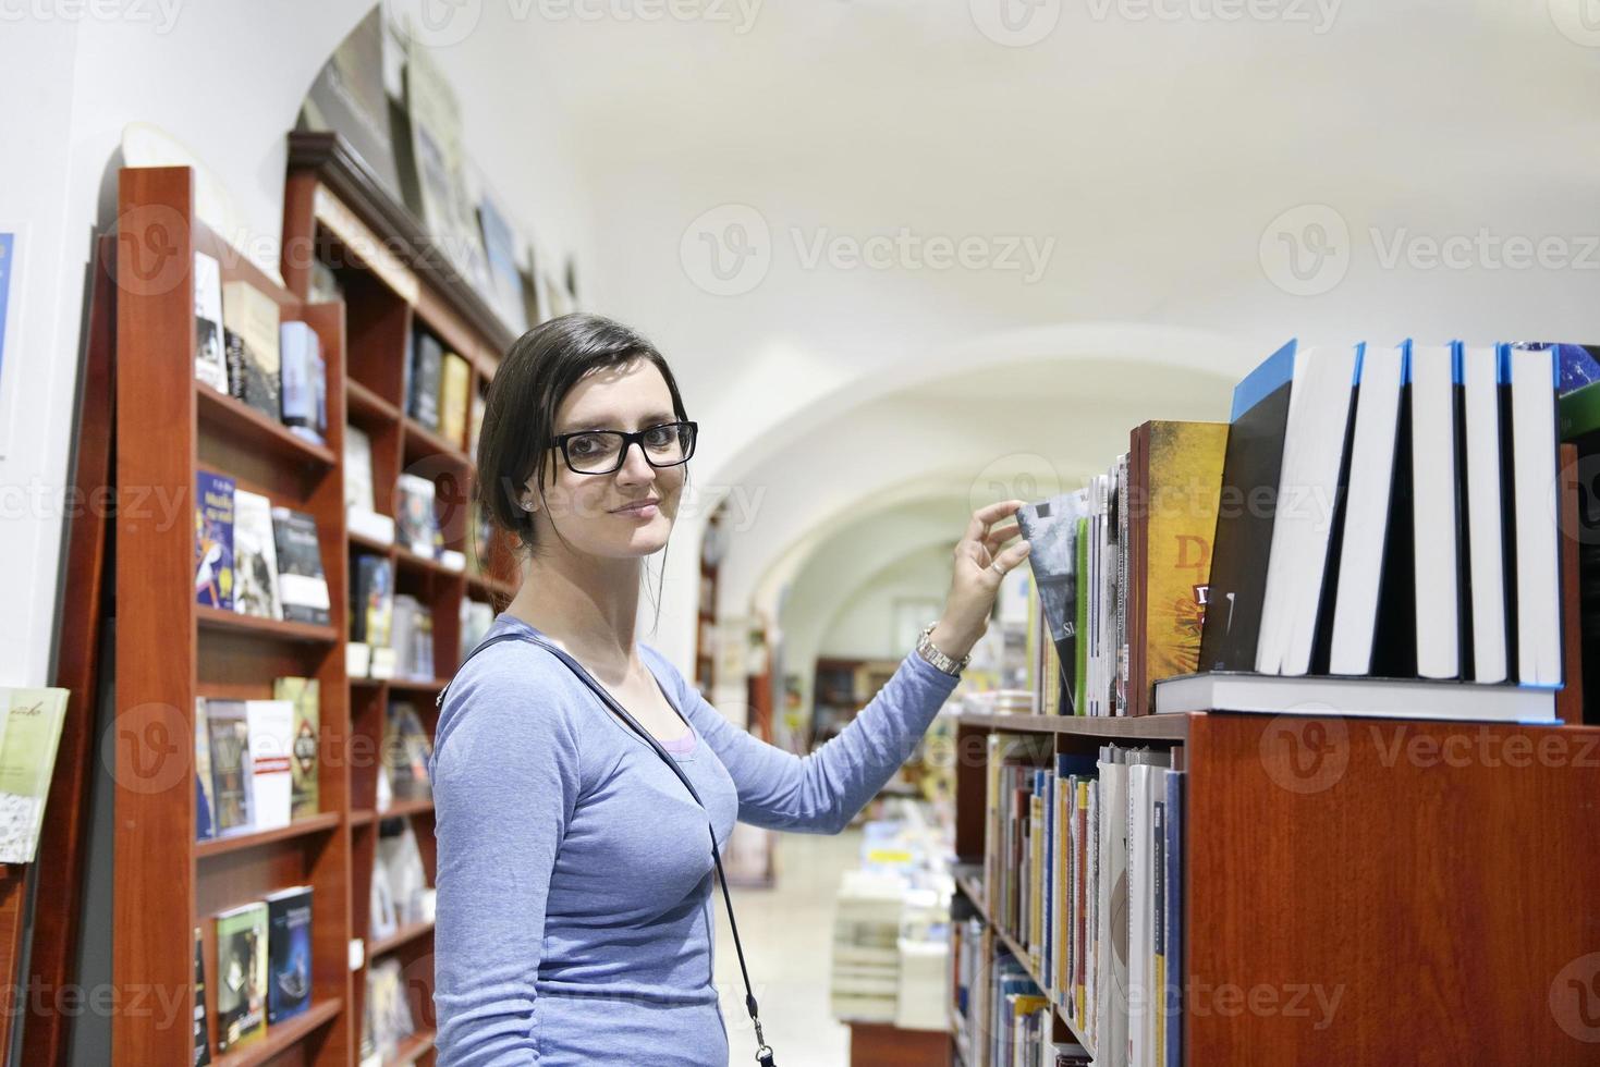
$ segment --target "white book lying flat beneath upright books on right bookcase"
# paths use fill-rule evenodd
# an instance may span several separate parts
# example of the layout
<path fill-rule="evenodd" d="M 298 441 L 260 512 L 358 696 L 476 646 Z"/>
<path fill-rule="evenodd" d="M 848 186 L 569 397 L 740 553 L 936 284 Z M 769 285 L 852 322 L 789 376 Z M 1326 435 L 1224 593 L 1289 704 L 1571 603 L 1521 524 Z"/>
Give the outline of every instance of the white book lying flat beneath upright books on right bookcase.
<path fill-rule="evenodd" d="M 1155 710 L 1262 715 L 1371 715 L 1478 723 L 1554 723 L 1555 686 L 1456 678 L 1283 678 L 1208 670 L 1155 683 Z"/>

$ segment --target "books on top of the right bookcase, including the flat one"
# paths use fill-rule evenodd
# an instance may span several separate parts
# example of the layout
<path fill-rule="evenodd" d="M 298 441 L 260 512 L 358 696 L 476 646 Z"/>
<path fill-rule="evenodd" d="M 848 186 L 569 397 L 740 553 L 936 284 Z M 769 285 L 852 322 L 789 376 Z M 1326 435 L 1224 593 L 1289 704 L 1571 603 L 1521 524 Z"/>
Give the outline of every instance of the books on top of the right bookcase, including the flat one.
<path fill-rule="evenodd" d="M 1557 349 L 1301 349 L 1018 512 L 1045 713 L 1552 721 Z"/>

